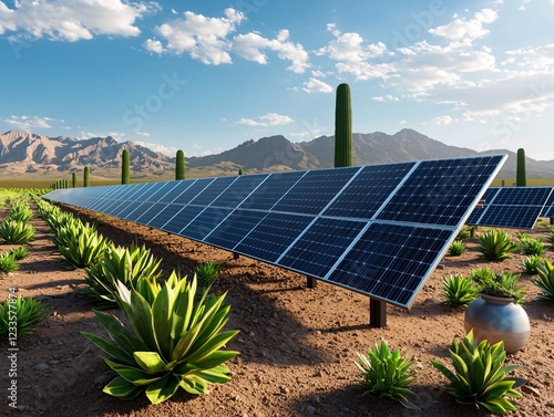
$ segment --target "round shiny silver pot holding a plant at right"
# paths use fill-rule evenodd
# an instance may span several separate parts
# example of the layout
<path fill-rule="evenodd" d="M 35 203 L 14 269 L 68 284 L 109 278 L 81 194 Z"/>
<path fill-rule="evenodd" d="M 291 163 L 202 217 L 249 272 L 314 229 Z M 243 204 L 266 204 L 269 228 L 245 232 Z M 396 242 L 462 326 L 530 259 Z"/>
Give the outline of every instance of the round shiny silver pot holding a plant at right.
<path fill-rule="evenodd" d="M 481 294 L 465 310 L 465 332 L 473 329 L 476 341 L 491 345 L 504 341 L 506 353 L 514 353 L 527 343 L 531 332 L 527 312 L 514 299 Z"/>

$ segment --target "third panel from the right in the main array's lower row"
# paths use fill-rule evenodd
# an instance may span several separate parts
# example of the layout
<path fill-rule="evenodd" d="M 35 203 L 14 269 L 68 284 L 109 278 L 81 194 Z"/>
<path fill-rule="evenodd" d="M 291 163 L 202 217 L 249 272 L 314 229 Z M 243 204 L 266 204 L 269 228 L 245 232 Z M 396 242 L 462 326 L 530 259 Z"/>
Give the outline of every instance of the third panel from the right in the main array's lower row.
<path fill-rule="evenodd" d="M 268 262 L 275 262 L 314 220 L 311 216 L 270 212 L 234 250 Z"/>

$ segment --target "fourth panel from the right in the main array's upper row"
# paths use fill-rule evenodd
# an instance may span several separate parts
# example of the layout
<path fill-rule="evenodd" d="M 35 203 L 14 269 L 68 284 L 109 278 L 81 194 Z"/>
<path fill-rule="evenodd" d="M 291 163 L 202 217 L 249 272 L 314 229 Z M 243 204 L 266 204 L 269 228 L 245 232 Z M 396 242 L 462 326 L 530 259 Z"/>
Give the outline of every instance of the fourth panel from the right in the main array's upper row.
<path fill-rule="evenodd" d="M 269 210 L 305 174 L 306 171 L 271 174 L 243 201 L 239 208 Z"/>

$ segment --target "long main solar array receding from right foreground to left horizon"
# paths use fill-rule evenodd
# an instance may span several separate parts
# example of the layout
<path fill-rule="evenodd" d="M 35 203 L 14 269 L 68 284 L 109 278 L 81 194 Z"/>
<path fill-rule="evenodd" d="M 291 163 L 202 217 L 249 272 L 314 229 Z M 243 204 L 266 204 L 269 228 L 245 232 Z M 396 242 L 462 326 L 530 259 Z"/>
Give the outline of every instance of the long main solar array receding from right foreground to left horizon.
<path fill-rule="evenodd" d="M 505 158 L 73 188 L 44 198 L 409 307 Z"/>

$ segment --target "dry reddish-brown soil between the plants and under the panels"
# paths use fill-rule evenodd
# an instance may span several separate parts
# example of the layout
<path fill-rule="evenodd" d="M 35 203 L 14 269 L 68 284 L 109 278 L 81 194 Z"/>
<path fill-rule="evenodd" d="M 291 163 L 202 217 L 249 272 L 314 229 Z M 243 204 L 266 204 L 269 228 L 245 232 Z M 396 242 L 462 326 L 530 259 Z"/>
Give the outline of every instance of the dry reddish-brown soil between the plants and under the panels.
<path fill-rule="evenodd" d="M 453 337 L 463 336 L 464 307 L 442 303 L 441 280 L 450 273 L 469 273 L 473 268 L 489 267 L 494 272 L 521 272 L 524 256 L 491 262 L 475 250 L 476 239 L 465 241 L 461 257 L 445 257 L 410 311 L 388 306 L 388 325 L 370 329 L 369 300 L 338 286 L 319 282 L 306 288 L 306 277 L 285 271 L 245 257 L 233 254 L 181 237 L 151 230 L 136 223 L 76 211 L 93 221 L 99 231 L 117 244 L 144 243 L 163 259 L 165 273 L 174 269 L 189 272 L 201 262 L 216 261 L 223 273 L 214 291 L 228 291 L 232 305 L 228 329 L 240 330 L 228 347 L 240 355 L 228 363 L 232 382 L 212 386 L 204 396 L 179 390 L 161 405 L 151 405 L 142 396 L 120 400 L 102 393 L 115 375 L 102 361 L 102 352 L 80 332 L 104 335 L 91 306 L 80 290 L 83 270 L 68 270 L 53 246 L 45 223 L 32 222 L 38 229 L 29 243 L 30 256 L 20 261 L 21 269 L 0 278 L 2 301 L 9 288 L 25 296 L 42 299 L 49 316 L 32 335 L 18 338 L 18 406 L 9 407 L 9 359 L 6 341 L 0 343 L 0 416 L 489 416 L 490 413 L 456 404 L 444 392 L 445 378 L 429 359 L 450 366 L 448 347 Z M 0 218 L 6 212 L 0 211 Z M 515 237 L 516 230 L 507 230 Z M 544 222 L 530 232 L 544 237 Z M 11 246 L 0 244 L 0 252 Z M 554 261 L 552 249 L 547 258 Z M 509 355 L 506 363 L 522 367 L 512 375 L 529 383 L 520 388 L 513 416 L 554 415 L 554 303 L 537 301 L 538 290 L 530 275 L 522 273 L 527 289 L 525 309 L 531 321 L 526 346 Z M 388 341 L 416 358 L 417 382 L 412 389 L 420 396 L 420 410 L 408 410 L 400 404 L 372 396 L 360 396 L 353 383 L 359 378 L 353 364 L 356 352 L 366 353 Z"/>

